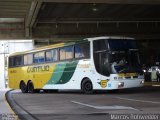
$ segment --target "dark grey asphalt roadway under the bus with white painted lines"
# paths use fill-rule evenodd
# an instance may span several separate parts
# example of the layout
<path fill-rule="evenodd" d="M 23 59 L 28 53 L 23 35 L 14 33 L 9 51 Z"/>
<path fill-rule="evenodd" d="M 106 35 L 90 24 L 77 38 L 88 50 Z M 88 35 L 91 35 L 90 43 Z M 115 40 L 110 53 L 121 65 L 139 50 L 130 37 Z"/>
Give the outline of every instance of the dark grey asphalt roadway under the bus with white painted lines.
<path fill-rule="evenodd" d="M 157 116 L 151 117 L 160 119 L 160 87 L 99 91 L 92 95 L 80 91 L 23 94 L 14 90 L 10 92 L 9 98 L 14 101 L 12 104 L 19 107 L 20 113 L 16 111 L 17 114 L 31 116 L 22 119 L 109 120 L 116 119 L 116 115 L 126 115 L 126 119 L 133 119 L 133 115 L 137 114 L 155 114 Z"/>

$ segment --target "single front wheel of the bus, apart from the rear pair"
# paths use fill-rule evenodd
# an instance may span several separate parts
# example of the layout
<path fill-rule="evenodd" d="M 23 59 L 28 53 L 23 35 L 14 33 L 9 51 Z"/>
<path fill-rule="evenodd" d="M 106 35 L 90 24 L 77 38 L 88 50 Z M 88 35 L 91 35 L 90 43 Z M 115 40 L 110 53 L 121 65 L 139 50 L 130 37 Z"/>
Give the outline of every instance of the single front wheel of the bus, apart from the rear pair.
<path fill-rule="evenodd" d="M 93 85 L 92 85 L 92 82 L 90 81 L 90 79 L 87 78 L 87 79 L 83 80 L 81 89 L 85 94 L 93 93 Z"/>

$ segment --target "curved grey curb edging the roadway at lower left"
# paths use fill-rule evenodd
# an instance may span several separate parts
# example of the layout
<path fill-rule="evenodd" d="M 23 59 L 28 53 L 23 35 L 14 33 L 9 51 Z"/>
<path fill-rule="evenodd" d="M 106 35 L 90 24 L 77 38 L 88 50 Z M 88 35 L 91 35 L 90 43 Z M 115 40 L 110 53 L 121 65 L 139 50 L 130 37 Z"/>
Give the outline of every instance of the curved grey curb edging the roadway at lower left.
<path fill-rule="evenodd" d="M 20 106 L 12 97 L 13 90 L 9 90 L 6 92 L 5 97 L 10 105 L 11 109 L 15 112 L 16 115 L 18 115 L 18 118 L 20 120 L 38 120 L 35 116 L 33 116 L 31 113 L 29 113 L 27 110 L 25 110 L 22 106 Z"/>

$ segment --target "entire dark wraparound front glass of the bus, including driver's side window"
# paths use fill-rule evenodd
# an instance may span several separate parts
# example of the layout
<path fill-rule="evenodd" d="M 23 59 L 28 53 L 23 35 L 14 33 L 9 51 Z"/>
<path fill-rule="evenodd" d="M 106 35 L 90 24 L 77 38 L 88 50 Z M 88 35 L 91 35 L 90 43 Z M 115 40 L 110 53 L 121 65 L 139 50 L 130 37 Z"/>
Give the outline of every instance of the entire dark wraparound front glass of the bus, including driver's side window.
<path fill-rule="evenodd" d="M 94 41 L 94 63 L 97 72 L 109 76 L 141 72 L 139 53 L 134 40 L 102 39 Z"/>

